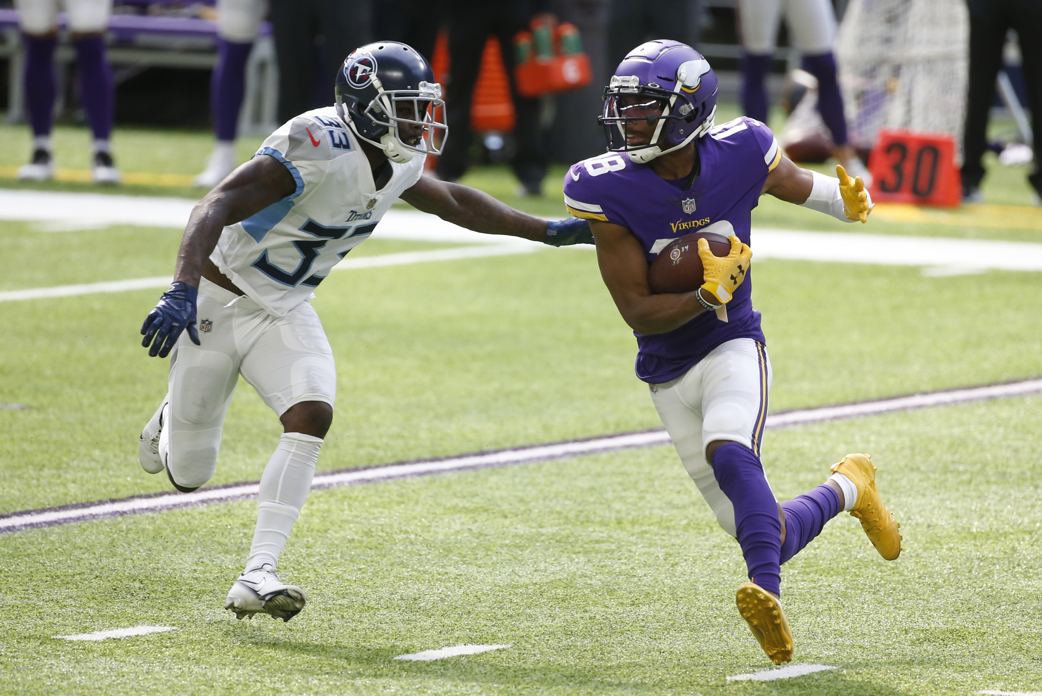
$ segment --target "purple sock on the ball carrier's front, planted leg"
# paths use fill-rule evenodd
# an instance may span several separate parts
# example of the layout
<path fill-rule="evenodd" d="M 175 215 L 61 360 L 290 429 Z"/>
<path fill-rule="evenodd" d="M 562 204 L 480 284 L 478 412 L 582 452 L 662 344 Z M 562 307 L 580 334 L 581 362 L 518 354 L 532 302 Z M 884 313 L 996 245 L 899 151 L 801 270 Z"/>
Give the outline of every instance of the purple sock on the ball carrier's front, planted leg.
<path fill-rule="evenodd" d="M 735 507 L 735 527 L 749 579 L 780 594 L 782 520 L 760 458 L 744 445 L 726 442 L 713 455 L 713 472 Z"/>

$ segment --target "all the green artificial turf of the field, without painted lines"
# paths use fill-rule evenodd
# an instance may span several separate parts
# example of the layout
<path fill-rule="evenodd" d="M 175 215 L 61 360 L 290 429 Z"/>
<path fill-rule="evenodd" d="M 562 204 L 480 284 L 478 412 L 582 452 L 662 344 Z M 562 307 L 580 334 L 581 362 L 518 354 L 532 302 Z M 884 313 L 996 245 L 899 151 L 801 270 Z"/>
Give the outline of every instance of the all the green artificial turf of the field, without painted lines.
<path fill-rule="evenodd" d="M 0 127 L 0 166 L 23 161 L 19 133 Z M 59 128 L 56 140 L 63 166 L 85 166 L 76 160 L 85 162 L 83 129 Z M 241 157 L 255 145 L 241 143 Z M 209 134 L 120 131 L 116 147 L 126 171 L 194 174 Z M 544 199 L 517 198 L 505 167 L 477 167 L 464 182 L 561 215 L 551 184 L 564 169 L 551 174 Z M 990 202 L 1025 203 L 1022 174 L 992 167 Z M 771 199 L 753 215 L 761 227 L 1040 234 L 844 225 Z M 0 290 L 169 274 L 180 238 L 178 230 L 47 229 L 0 222 Z M 352 258 L 445 246 L 377 233 Z M 924 278 L 914 267 L 774 259 L 754 267 L 773 411 L 1042 375 L 1037 274 Z M 167 363 L 146 356 L 138 333 L 157 294 L 0 304 L 0 404 L 29 407 L 0 409 L 0 514 L 169 490 L 135 456 L 166 390 Z M 344 270 L 317 294 L 339 371 L 320 469 L 660 427 L 592 250 Z M 212 484 L 257 480 L 278 438 L 274 415 L 240 387 Z M 905 535 L 901 559 L 886 563 L 843 515 L 785 567 L 795 662 L 835 671 L 725 681 L 769 667 L 734 607 L 739 549 L 673 450 L 652 447 L 315 492 L 282 557 L 311 597 L 288 624 L 235 622 L 221 609 L 255 502 L 0 536 L 0 693 L 1040 690 L 1040 411 L 1036 396 L 768 434 L 764 461 L 782 499 L 820 483 L 842 455 L 872 453 Z M 52 638 L 140 624 L 178 629 L 98 643 Z M 464 643 L 512 647 L 392 660 Z"/>

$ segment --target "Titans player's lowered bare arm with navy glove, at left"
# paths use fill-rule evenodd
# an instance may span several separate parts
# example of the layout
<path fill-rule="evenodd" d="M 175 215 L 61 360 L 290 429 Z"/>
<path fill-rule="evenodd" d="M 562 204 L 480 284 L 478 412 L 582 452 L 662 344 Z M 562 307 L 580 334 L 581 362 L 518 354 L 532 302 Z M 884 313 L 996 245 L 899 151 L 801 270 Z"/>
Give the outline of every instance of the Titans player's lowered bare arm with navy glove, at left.
<path fill-rule="evenodd" d="M 199 344 L 195 328 L 199 278 L 205 264 L 212 263 L 209 254 L 225 225 L 246 220 L 296 189 L 297 183 L 284 165 L 274 157 L 259 155 L 232 172 L 196 204 L 177 252 L 174 282 L 141 327 L 145 337 L 141 344 L 150 356 L 166 358 L 185 329 L 192 341 Z"/>

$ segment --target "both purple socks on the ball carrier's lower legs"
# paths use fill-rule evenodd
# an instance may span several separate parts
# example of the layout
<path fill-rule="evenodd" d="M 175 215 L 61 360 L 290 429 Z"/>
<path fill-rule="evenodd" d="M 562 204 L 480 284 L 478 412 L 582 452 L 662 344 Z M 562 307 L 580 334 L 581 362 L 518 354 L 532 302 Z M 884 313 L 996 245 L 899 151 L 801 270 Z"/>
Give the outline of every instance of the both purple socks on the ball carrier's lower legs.
<path fill-rule="evenodd" d="M 760 458 L 745 445 L 726 442 L 713 455 L 713 472 L 720 490 L 735 509 L 738 543 L 745 557 L 749 579 L 780 595 L 782 564 L 798 553 L 821 533 L 825 522 L 839 514 L 839 495 L 832 487 L 821 485 L 784 502 L 786 541 L 783 544 L 777 502 Z"/>

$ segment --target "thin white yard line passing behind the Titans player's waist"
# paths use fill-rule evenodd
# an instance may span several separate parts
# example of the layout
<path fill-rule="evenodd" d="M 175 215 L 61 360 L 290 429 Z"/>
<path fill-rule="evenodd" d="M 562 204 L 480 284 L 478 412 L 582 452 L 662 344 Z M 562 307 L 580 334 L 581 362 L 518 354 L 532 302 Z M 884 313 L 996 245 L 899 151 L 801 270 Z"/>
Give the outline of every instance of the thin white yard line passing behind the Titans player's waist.
<path fill-rule="evenodd" d="M 426 263 L 429 261 L 451 261 L 455 259 L 473 259 L 482 256 L 505 256 L 510 254 L 530 254 L 538 252 L 544 244 L 523 243 L 482 244 L 480 247 L 457 247 L 455 249 L 435 249 L 426 252 L 401 252 L 398 254 L 380 254 L 378 256 L 359 256 L 344 259 L 333 270 L 352 268 L 380 268 L 383 266 L 406 265 L 411 263 Z M 134 278 L 117 280 L 106 283 L 85 283 L 82 285 L 57 285 L 54 287 L 34 287 L 26 290 L 0 291 L 0 302 L 18 300 L 43 300 L 47 298 L 70 298 L 78 294 L 95 294 L 99 292 L 123 292 L 125 290 L 144 290 L 147 288 L 165 288 L 173 280 L 172 276 L 153 276 L 152 278 Z"/>

